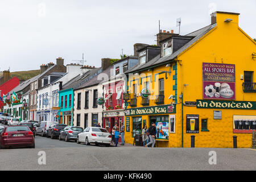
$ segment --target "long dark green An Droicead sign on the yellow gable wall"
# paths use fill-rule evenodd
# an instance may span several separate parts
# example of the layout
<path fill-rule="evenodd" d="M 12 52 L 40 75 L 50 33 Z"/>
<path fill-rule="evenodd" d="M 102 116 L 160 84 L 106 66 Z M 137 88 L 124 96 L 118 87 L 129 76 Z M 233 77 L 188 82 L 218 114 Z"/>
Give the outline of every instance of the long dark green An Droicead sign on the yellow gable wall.
<path fill-rule="evenodd" d="M 256 102 L 253 101 L 215 101 L 196 100 L 197 108 L 205 109 L 250 109 L 256 110 Z"/>

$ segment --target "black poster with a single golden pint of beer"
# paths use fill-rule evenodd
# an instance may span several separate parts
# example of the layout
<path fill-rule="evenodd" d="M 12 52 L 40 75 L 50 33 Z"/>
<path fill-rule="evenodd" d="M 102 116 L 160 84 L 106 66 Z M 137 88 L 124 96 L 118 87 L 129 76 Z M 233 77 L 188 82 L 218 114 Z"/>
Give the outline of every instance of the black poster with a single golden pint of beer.
<path fill-rule="evenodd" d="M 186 118 L 186 133 L 199 133 L 199 115 L 187 114 Z"/>

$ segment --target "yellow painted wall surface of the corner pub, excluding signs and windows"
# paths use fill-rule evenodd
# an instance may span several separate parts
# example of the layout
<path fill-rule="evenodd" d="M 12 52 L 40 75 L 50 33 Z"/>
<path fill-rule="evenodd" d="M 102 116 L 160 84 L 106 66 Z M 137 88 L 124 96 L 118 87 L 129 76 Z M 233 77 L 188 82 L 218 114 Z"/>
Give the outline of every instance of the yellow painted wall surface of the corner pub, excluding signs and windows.
<path fill-rule="evenodd" d="M 226 18 L 233 19 L 230 23 L 224 23 Z M 254 71 L 253 80 L 256 82 L 256 59 L 252 59 L 251 53 L 256 52 L 254 40 L 245 34 L 238 27 L 238 15 L 220 14 L 217 13 L 217 26 L 207 35 L 199 39 L 195 44 L 177 56 L 177 97 L 183 93 L 185 101 L 196 101 L 203 99 L 203 63 L 223 63 L 236 65 L 236 101 L 256 101 L 256 93 L 243 93 L 240 75 L 243 71 Z M 151 99 L 154 99 L 158 94 L 158 82 L 154 82 L 154 74 L 158 71 L 172 71 L 171 75 L 167 73 L 167 79 L 164 80 L 164 104 L 171 104 L 168 97 L 175 95 L 175 90 L 172 86 L 175 85 L 173 75 L 174 63 L 171 67 L 166 65 L 155 67 L 151 71 L 141 72 L 139 76 L 144 77 L 143 74 L 152 75 Z M 164 78 L 166 75 L 159 75 L 159 78 Z M 130 93 L 132 92 L 132 85 L 130 85 L 129 78 L 127 85 Z M 158 78 L 156 78 L 158 80 Z M 142 83 L 146 79 L 142 80 Z M 137 82 L 137 81 L 136 81 Z M 141 83 L 141 80 L 139 80 Z M 188 84 L 184 86 L 184 84 Z M 137 90 L 139 92 L 144 88 L 144 85 L 139 84 Z M 132 94 L 132 93 L 131 93 Z M 137 107 L 140 105 L 141 96 L 137 97 Z M 150 106 L 154 106 L 154 100 L 150 101 Z M 130 106 L 127 106 L 129 109 Z M 213 119 L 213 110 L 222 111 L 222 119 Z M 233 115 L 256 115 L 256 110 L 232 110 L 232 109 L 197 109 L 196 107 L 183 107 L 183 133 L 184 133 L 184 147 L 191 147 L 191 135 L 195 135 L 195 147 L 233 147 L 233 136 L 237 136 L 238 147 L 251 146 L 251 134 L 234 134 L 233 133 Z M 186 134 L 186 114 L 199 114 L 199 133 Z M 160 147 L 181 147 L 181 132 L 182 132 L 182 115 L 181 115 L 181 100 L 177 98 L 176 105 L 176 133 L 169 134 L 169 142 L 159 142 Z M 143 119 L 147 119 L 147 126 L 149 125 L 149 116 L 143 115 Z M 201 119 L 208 119 L 208 130 L 201 131 Z M 126 121 L 126 120 L 125 120 Z M 130 131 L 132 131 L 132 117 L 130 117 Z M 133 138 L 130 133 L 125 133 L 125 140 L 127 143 L 133 143 Z"/>

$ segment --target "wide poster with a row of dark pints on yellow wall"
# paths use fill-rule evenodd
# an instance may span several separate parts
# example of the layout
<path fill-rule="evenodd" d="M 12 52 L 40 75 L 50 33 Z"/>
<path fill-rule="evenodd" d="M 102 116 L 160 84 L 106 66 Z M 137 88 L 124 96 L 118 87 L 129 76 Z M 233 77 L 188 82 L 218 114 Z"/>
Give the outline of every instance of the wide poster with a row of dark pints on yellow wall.
<path fill-rule="evenodd" d="M 233 133 L 256 131 L 256 115 L 233 115 Z"/>

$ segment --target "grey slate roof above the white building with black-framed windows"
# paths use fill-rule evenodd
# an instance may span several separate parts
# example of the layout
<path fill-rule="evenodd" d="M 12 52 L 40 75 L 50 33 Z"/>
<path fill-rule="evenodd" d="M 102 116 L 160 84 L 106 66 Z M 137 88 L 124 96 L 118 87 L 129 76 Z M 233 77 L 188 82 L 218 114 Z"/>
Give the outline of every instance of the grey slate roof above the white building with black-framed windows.
<path fill-rule="evenodd" d="M 108 80 L 109 80 L 109 78 L 112 76 L 111 75 L 111 71 L 112 71 L 112 69 L 114 68 L 114 66 L 113 65 L 111 65 L 109 68 L 107 68 L 107 69 L 105 69 L 104 71 L 102 71 L 101 73 L 99 73 L 99 74 L 104 74 L 104 75 L 102 75 L 104 78 L 108 78 Z M 106 81 L 106 80 L 104 80 L 104 81 Z M 93 86 L 93 85 L 98 85 L 98 84 L 100 84 L 102 82 L 102 80 L 98 80 L 98 76 L 96 75 L 96 76 L 94 76 L 92 79 L 90 79 L 89 81 L 87 81 L 87 82 L 85 82 L 84 84 L 81 84 L 80 86 L 78 86 L 77 88 L 76 88 L 76 90 L 79 90 L 79 89 L 82 89 L 82 88 L 87 88 L 87 87 L 89 87 L 89 86 Z M 75 90 L 75 88 L 74 88 L 74 90 Z"/>

